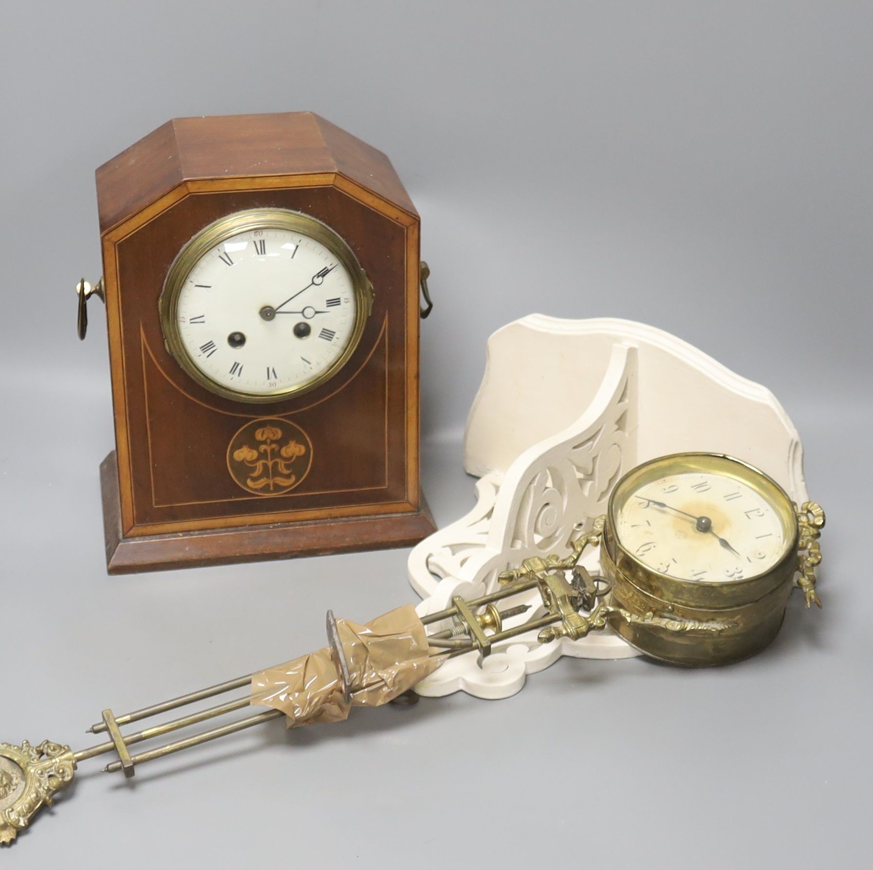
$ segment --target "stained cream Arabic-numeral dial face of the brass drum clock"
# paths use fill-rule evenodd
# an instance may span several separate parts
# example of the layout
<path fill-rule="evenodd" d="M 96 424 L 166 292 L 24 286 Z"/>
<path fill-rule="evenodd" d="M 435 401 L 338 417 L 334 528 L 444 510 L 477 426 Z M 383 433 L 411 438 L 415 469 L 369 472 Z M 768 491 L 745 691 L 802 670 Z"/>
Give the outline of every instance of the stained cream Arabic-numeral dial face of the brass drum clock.
<path fill-rule="evenodd" d="M 718 473 L 650 480 L 616 518 L 622 547 L 680 580 L 725 583 L 770 570 L 785 553 L 780 515 L 760 492 Z"/>

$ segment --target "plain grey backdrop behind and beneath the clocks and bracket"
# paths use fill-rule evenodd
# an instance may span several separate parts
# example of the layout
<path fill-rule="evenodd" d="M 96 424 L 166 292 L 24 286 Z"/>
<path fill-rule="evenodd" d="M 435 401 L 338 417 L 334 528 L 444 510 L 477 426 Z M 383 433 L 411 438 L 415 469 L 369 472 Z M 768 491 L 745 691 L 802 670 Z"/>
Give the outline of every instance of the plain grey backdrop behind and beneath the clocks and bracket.
<path fill-rule="evenodd" d="M 93 169 L 171 117 L 311 109 L 395 163 L 433 268 L 440 523 L 471 505 L 485 339 L 532 311 L 647 321 L 766 383 L 829 520 L 825 610 L 794 600 L 746 664 L 568 660 L 132 784 L 92 763 L 3 861 L 867 867 L 871 27 L 833 0 L 4 4 L 0 740 L 79 748 L 104 707 L 320 646 L 328 606 L 414 600 L 402 550 L 106 577 L 105 327 L 79 345 L 72 287 L 100 273 Z"/>

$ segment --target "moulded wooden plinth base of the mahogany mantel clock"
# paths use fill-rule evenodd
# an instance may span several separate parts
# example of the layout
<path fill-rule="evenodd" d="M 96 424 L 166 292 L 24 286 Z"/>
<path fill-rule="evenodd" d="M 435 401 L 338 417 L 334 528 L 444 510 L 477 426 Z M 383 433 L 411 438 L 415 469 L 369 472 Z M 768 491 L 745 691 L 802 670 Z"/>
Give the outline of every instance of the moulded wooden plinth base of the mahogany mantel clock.
<path fill-rule="evenodd" d="M 275 523 L 270 526 L 213 528 L 172 535 L 121 534 L 118 462 L 115 452 L 100 464 L 103 531 L 110 574 L 265 562 L 295 556 L 326 556 L 349 550 L 411 547 L 436 531 L 427 502 L 407 514 L 376 514 Z"/>

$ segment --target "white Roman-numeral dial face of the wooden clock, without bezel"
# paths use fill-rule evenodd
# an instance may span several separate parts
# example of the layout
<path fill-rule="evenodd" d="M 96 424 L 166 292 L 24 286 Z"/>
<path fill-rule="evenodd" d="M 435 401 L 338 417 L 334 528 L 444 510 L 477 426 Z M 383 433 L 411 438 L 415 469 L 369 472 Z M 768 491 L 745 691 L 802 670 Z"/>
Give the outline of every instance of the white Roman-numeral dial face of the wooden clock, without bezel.
<path fill-rule="evenodd" d="M 325 245 L 244 231 L 203 253 L 182 285 L 178 334 L 203 375 L 269 396 L 330 369 L 352 339 L 352 278 Z"/>

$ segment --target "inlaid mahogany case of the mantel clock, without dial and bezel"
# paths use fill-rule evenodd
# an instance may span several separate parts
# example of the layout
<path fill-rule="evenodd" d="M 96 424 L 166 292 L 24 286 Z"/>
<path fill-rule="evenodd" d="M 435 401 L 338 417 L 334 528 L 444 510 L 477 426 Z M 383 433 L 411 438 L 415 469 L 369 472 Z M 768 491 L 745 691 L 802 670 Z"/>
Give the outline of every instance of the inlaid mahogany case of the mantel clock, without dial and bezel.
<path fill-rule="evenodd" d="M 309 113 L 189 118 L 100 167 L 97 191 L 117 445 L 101 467 L 110 573 L 429 535 L 419 485 L 419 218 L 385 155 Z M 375 300 L 361 341 L 327 383 L 248 404 L 182 370 L 158 303 L 191 238 L 265 208 L 338 233 Z M 296 445 L 292 485 L 250 486 L 235 457 L 273 442 Z"/>

